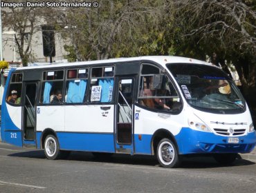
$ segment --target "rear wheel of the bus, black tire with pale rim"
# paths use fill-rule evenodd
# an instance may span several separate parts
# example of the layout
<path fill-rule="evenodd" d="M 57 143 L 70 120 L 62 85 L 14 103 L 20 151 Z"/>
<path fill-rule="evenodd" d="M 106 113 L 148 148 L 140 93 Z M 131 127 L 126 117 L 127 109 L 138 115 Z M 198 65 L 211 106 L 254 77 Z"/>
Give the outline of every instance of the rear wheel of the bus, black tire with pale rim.
<path fill-rule="evenodd" d="M 47 159 L 59 159 L 60 157 L 60 145 L 57 138 L 52 134 L 46 136 L 44 141 L 44 154 Z"/>

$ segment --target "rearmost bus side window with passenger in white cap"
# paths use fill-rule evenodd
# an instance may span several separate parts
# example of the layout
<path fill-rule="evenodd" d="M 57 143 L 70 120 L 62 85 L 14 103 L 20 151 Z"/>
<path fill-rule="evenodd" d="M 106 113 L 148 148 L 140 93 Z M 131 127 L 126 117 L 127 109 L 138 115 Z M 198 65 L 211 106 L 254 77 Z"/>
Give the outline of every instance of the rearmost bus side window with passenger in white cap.
<path fill-rule="evenodd" d="M 8 101 L 8 103 L 12 103 L 12 105 L 21 104 L 22 78 L 22 73 L 12 74 L 8 88 L 8 96 L 6 98 L 6 101 Z"/>

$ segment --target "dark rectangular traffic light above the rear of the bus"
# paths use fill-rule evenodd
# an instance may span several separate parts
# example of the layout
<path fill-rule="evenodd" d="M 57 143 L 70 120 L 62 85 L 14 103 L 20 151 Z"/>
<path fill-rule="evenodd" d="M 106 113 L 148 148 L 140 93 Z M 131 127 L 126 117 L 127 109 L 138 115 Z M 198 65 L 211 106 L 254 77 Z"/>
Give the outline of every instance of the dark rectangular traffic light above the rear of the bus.
<path fill-rule="evenodd" d="M 53 26 L 42 26 L 45 57 L 55 57 L 55 37 Z"/>

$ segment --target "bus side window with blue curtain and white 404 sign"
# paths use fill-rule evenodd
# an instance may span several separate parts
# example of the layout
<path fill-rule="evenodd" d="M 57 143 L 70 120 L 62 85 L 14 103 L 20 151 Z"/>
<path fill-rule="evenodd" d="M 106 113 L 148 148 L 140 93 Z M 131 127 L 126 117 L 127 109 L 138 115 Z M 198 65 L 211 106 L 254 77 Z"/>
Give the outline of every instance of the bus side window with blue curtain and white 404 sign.
<path fill-rule="evenodd" d="M 113 75 L 113 66 L 91 70 L 90 102 L 110 103 L 112 101 Z"/>

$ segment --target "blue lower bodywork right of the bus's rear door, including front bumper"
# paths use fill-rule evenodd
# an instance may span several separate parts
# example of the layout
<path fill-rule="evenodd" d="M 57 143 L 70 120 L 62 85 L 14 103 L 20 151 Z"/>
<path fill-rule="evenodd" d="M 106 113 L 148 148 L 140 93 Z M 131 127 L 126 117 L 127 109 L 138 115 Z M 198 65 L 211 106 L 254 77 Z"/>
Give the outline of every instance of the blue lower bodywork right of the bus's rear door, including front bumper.
<path fill-rule="evenodd" d="M 37 132 L 37 147 L 40 147 L 42 132 Z M 189 136 L 189 137 L 188 137 Z M 239 143 L 228 143 L 228 136 L 218 136 L 212 132 L 200 132 L 182 128 L 174 136 L 180 154 L 235 152 L 246 153 L 255 147 L 255 132 L 246 136 L 237 136 Z M 235 137 L 235 136 L 233 136 Z M 58 132 L 60 149 L 87 152 L 115 152 L 113 134 Z M 152 134 L 134 134 L 134 154 L 152 154 Z"/>

